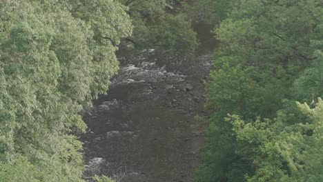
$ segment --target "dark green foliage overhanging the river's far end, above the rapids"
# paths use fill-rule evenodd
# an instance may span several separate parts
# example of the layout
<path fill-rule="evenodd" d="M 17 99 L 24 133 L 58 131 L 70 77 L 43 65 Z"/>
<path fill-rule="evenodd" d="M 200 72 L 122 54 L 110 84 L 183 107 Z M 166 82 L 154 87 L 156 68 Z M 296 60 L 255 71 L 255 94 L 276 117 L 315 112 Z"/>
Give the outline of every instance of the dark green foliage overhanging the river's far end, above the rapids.
<path fill-rule="evenodd" d="M 188 16 L 181 12 L 183 1 L 177 0 L 119 0 L 128 6 L 134 30 L 128 41 L 136 48 L 163 48 L 178 53 L 196 48 L 196 34 Z M 176 6 L 177 10 L 173 6 Z"/>

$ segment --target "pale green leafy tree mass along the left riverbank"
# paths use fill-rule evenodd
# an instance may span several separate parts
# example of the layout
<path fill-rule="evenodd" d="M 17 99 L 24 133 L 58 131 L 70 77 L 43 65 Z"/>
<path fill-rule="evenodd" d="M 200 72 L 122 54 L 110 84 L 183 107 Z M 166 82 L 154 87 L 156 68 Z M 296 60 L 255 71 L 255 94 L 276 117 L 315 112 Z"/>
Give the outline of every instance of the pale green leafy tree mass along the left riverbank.
<path fill-rule="evenodd" d="M 79 111 L 117 71 L 114 43 L 131 32 L 124 10 L 109 0 L 0 2 L 1 181 L 83 181 L 81 142 L 69 133 L 86 129 Z"/>

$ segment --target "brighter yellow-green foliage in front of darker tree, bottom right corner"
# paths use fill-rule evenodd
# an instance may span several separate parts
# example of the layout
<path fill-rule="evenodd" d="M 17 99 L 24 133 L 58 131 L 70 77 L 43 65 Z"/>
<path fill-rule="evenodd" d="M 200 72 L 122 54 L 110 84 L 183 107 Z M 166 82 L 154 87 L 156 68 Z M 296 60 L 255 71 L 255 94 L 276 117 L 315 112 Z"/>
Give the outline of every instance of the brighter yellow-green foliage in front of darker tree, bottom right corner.
<path fill-rule="evenodd" d="M 239 142 L 235 152 L 255 165 L 247 181 L 322 181 L 323 101 L 319 98 L 315 108 L 298 103 L 298 110 L 308 123 L 288 125 L 285 114 L 251 123 L 228 117 Z"/>

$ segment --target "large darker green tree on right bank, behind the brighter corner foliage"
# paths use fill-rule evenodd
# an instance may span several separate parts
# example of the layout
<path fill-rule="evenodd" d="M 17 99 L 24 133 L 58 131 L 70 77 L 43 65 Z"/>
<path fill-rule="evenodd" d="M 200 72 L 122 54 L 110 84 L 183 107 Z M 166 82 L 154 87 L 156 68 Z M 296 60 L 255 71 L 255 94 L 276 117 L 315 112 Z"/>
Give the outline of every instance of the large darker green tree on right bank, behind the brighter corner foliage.
<path fill-rule="evenodd" d="M 284 100 L 311 101 L 322 94 L 320 1 L 236 1 L 231 8 L 215 29 L 221 43 L 207 91 L 214 113 L 205 131 L 199 182 L 243 181 L 256 168 L 237 153 L 244 143 L 233 136 L 226 114 L 246 123 L 258 117 L 273 121 Z"/>

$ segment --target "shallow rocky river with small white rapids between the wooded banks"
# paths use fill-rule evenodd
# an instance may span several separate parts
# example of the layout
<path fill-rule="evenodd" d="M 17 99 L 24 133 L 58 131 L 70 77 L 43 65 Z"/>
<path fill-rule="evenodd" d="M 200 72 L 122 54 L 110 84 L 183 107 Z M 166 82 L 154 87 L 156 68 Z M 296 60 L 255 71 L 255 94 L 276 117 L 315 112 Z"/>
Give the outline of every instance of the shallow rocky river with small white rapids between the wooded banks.
<path fill-rule="evenodd" d="M 203 143 L 204 81 L 210 56 L 146 50 L 121 57 L 108 96 L 84 113 L 86 176 L 121 182 L 193 181 Z"/>

